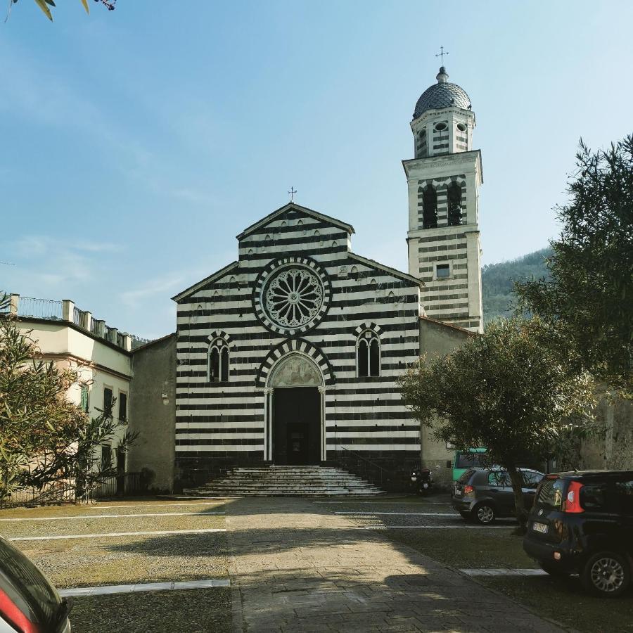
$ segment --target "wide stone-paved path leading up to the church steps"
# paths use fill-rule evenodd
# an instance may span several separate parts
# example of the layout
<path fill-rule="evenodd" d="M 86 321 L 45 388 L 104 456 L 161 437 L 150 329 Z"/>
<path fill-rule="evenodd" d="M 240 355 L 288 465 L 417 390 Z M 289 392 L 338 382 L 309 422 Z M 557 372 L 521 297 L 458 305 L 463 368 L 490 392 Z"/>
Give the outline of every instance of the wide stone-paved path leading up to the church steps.
<path fill-rule="evenodd" d="M 227 505 L 234 633 L 563 629 L 325 504 Z"/>

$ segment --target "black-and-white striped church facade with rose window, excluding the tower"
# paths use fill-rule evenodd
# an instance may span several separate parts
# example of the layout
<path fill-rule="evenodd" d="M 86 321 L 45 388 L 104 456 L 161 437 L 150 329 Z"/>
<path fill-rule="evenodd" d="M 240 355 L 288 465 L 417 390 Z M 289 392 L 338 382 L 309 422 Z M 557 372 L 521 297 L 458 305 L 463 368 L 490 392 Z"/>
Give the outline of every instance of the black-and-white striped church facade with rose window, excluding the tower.
<path fill-rule="evenodd" d="M 420 282 L 352 252 L 353 233 L 290 203 L 174 297 L 177 467 L 419 458 L 395 381 L 418 359 Z"/>

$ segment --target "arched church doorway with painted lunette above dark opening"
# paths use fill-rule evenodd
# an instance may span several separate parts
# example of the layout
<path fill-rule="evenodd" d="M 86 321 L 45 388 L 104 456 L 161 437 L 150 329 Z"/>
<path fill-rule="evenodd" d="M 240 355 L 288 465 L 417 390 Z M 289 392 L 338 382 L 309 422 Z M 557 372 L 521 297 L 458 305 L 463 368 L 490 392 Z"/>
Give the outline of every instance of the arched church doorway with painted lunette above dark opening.
<path fill-rule="evenodd" d="M 268 459 L 304 466 L 322 461 L 324 381 L 316 363 L 301 352 L 282 357 L 267 381 Z"/>

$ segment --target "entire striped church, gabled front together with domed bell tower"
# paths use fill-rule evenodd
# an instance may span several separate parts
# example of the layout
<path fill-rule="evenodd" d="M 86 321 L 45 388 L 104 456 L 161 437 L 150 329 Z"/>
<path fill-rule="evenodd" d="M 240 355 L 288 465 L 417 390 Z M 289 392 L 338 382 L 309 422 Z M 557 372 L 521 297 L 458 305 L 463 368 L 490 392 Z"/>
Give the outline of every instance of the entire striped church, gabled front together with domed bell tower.
<path fill-rule="evenodd" d="M 387 467 L 421 462 L 450 480 L 452 452 L 420 427 L 397 384 L 421 356 L 482 331 L 481 156 L 470 99 L 447 79 L 440 68 L 418 99 L 414 158 L 403 161 L 409 271 L 354 253 L 350 224 L 295 203 L 248 226 L 236 261 L 173 298 L 176 334 L 134 354 L 134 380 L 145 381 L 136 393 L 148 395 L 132 391 L 147 435 L 135 466 L 162 468 L 143 430 L 153 426 L 172 429 L 164 482 L 334 463 L 346 451 Z"/>

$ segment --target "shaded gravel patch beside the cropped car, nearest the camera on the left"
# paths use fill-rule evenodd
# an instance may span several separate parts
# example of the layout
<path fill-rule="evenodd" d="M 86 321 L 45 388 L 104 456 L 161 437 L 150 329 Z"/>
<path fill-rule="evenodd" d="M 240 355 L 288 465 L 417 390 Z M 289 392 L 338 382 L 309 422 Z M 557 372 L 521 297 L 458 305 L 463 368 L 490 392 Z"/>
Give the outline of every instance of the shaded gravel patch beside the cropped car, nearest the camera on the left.
<path fill-rule="evenodd" d="M 76 598 L 72 633 L 229 633 L 230 589 Z"/>

